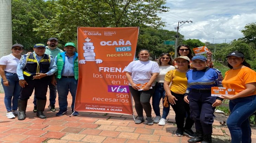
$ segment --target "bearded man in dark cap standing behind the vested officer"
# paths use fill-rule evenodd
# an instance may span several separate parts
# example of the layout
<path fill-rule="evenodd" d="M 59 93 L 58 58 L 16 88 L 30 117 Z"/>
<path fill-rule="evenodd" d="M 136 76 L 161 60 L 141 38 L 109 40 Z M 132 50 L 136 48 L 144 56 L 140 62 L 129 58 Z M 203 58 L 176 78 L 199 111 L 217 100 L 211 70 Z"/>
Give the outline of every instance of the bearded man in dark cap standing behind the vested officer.
<path fill-rule="evenodd" d="M 57 56 L 58 53 L 63 52 L 63 50 L 61 50 L 57 47 L 58 39 L 55 37 L 49 38 L 47 41 L 47 45 L 48 46 L 46 46 L 45 54 L 51 55 L 53 57 L 53 59 Z M 56 112 L 55 102 L 56 102 L 56 97 L 57 97 L 57 87 L 55 85 L 52 85 L 50 82 L 48 85 L 49 85 L 49 90 L 50 90 L 50 95 L 49 95 L 50 105 L 48 106 L 48 108 L 50 109 L 51 112 Z M 35 96 L 34 96 L 34 102 L 33 102 L 34 103 L 33 112 L 36 112 L 36 107 L 37 107 Z"/>

